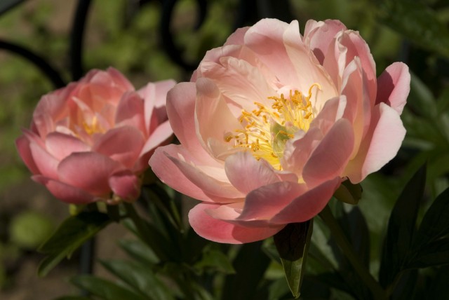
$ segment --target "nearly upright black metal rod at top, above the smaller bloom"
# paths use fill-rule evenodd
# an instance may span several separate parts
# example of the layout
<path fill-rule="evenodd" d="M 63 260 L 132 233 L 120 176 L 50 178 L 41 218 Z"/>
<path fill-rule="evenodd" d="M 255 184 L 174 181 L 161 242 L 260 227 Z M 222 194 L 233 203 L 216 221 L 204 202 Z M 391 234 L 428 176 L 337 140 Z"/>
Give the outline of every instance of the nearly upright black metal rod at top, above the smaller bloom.
<path fill-rule="evenodd" d="M 83 76 L 83 37 L 86 28 L 86 19 L 88 16 L 91 0 L 79 0 L 76 6 L 76 12 L 70 34 L 70 69 L 72 79 L 78 80 Z"/>

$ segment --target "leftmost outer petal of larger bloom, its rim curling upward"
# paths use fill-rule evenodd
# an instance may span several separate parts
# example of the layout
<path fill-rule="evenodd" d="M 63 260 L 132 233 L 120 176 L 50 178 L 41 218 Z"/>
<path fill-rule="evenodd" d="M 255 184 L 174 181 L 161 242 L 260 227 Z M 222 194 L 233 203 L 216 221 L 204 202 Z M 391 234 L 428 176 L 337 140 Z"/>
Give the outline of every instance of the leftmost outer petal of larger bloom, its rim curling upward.
<path fill-rule="evenodd" d="M 203 191 L 203 189 L 194 184 L 194 182 L 192 182 L 192 180 L 177 167 L 173 161 L 178 157 L 182 157 L 185 161 L 191 161 L 192 163 L 200 163 L 194 156 L 192 156 L 192 154 L 186 151 L 183 146 L 170 144 L 168 146 L 157 148 L 149 159 L 149 165 L 163 183 L 171 186 L 180 193 L 184 193 L 189 197 L 202 201 L 213 202 L 217 200 L 215 197 L 206 195 L 206 192 Z M 225 199 L 221 198 L 218 200 L 225 201 Z M 234 199 L 228 199 L 227 202 L 234 202 Z"/>

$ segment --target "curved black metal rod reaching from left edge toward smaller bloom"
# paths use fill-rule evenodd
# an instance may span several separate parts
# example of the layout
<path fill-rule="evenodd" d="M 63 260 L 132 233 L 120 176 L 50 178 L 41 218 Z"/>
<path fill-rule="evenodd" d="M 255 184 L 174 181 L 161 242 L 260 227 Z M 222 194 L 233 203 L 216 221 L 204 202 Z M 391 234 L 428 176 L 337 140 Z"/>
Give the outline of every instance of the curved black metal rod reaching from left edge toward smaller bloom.
<path fill-rule="evenodd" d="M 62 80 L 58 71 L 56 71 L 51 65 L 46 62 L 42 57 L 32 53 L 30 50 L 22 46 L 18 46 L 15 43 L 10 43 L 7 41 L 0 40 L 0 49 L 7 50 L 13 54 L 20 55 L 29 62 L 32 62 L 36 67 L 38 67 L 43 74 L 45 74 L 55 88 L 62 88 L 65 86 L 65 82 Z"/>

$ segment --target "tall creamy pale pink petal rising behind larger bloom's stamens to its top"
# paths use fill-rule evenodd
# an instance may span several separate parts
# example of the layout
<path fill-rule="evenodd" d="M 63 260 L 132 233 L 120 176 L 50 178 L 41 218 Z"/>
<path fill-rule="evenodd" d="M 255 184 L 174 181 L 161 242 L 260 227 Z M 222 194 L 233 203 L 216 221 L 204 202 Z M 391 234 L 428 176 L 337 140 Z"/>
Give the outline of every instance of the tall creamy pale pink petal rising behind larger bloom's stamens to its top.
<path fill-rule="evenodd" d="M 326 70 L 311 55 L 311 50 L 301 41 L 301 34 L 296 20 L 288 25 L 286 32 L 283 33 L 283 43 L 286 47 L 287 55 L 290 57 L 291 64 L 295 67 L 299 81 L 293 84 L 295 88 L 307 95 L 309 88 L 314 83 L 319 83 L 321 89 L 316 88 L 312 93 L 311 102 L 314 112 L 321 111 L 321 108 L 327 100 L 337 96 L 332 79 Z M 307 70 L 307 71 L 304 71 Z"/>

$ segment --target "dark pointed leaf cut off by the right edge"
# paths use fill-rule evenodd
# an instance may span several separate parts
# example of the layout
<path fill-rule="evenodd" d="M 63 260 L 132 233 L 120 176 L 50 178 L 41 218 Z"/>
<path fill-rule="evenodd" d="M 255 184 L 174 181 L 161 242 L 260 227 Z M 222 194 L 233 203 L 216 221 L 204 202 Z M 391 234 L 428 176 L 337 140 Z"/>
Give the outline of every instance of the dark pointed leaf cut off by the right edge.
<path fill-rule="evenodd" d="M 427 243 L 449 234 L 449 188 L 438 195 L 424 214 L 415 239 L 415 249 L 427 247 Z"/>

